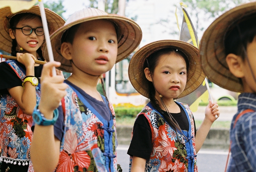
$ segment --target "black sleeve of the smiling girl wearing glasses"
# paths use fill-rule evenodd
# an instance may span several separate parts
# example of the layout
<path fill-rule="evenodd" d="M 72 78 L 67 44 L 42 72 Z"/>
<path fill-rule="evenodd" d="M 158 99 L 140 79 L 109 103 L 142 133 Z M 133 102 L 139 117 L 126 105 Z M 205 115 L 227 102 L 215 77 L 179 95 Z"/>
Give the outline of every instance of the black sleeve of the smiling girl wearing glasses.
<path fill-rule="evenodd" d="M 0 63 L 0 93 L 9 94 L 7 88 L 22 86 L 21 79 L 17 76 L 9 64 L 5 62 Z"/>

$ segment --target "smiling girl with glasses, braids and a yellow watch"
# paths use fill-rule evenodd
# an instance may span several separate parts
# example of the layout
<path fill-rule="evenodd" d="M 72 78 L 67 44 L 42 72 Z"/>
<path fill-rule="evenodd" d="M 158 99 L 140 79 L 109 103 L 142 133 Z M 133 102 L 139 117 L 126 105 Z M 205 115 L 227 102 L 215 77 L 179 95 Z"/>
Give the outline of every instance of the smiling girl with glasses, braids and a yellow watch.
<path fill-rule="evenodd" d="M 65 21 L 46 9 L 52 33 Z M 32 112 L 40 99 L 40 76 L 44 61 L 41 45 L 44 31 L 38 6 L 12 14 L 9 7 L 0 10 L 0 49 L 17 55 L 17 61 L 0 63 L 0 144 L 1 167 L 5 172 L 27 172 L 32 139 Z"/>

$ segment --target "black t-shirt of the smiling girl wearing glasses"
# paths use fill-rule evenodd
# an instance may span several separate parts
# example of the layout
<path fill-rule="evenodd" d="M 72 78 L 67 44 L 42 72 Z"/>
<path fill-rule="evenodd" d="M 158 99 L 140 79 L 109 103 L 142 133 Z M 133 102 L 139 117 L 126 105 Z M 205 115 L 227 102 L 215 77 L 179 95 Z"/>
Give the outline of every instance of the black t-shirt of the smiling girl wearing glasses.
<path fill-rule="evenodd" d="M 26 71 L 26 67 L 16 61 L 18 65 Z M 34 67 L 34 74 L 37 77 L 39 83 L 41 78 L 43 65 L 35 66 Z M 25 73 L 26 74 L 26 73 Z M 7 88 L 13 88 L 17 86 L 22 86 L 21 79 L 17 76 L 15 71 L 10 67 L 9 64 L 6 62 L 0 63 L 0 94 L 9 94 Z"/>

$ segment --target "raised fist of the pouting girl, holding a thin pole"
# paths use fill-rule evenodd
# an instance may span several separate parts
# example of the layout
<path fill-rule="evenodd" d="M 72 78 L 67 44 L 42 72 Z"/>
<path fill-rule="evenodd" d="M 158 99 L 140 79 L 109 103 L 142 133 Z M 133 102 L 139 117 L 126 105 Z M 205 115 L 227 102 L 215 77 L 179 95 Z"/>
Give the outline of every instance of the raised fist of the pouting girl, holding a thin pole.
<path fill-rule="evenodd" d="M 208 119 L 210 122 L 214 122 L 220 115 L 219 109 L 218 109 L 217 102 L 209 101 L 209 104 L 206 107 L 205 110 L 205 118 Z M 215 117 L 217 115 L 217 118 Z"/>

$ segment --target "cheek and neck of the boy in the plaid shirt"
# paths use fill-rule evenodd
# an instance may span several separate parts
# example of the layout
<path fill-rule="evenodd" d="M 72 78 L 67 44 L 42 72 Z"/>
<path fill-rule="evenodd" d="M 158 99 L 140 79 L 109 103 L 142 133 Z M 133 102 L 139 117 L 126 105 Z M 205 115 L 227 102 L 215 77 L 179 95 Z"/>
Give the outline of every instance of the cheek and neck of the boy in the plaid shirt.
<path fill-rule="evenodd" d="M 254 40 L 247 45 L 247 56 L 249 63 L 247 63 L 246 59 L 244 60 L 244 92 L 256 93 L 256 37 Z M 252 71 L 251 71 L 252 70 Z"/>

